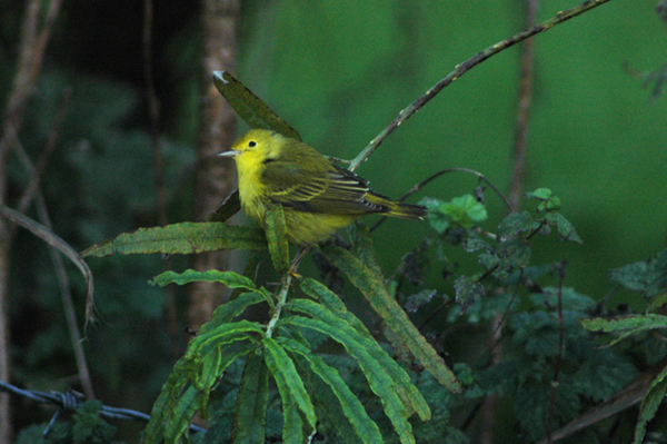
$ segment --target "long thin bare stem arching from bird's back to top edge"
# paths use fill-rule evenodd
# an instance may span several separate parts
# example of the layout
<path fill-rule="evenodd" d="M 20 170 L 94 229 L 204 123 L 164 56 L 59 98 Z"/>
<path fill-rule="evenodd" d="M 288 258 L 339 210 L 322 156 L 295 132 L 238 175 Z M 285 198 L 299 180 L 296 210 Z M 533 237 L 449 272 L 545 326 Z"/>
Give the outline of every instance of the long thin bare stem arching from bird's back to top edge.
<path fill-rule="evenodd" d="M 375 139 L 370 141 L 370 144 L 359 152 L 359 155 L 352 159 L 350 165 L 350 171 L 357 170 L 361 164 L 364 164 L 376 149 L 380 146 L 380 144 L 389 136 L 396 128 L 398 128 L 404 121 L 408 120 L 412 115 L 426 103 L 428 103 L 438 92 L 440 92 L 445 87 L 449 86 L 456 79 L 461 77 L 464 73 L 475 68 L 477 65 L 481 63 L 486 59 L 491 56 L 497 55 L 500 51 L 506 50 L 519 43 L 535 34 L 540 32 L 546 32 L 549 29 L 554 28 L 556 24 L 560 24 L 571 18 L 575 18 L 593 8 L 597 8 L 603 3 L 606 3 L 610 0 L 588 0 L 584 3 L 576 6 L 574 8 L 567 9 L 565 11 L 558 12 L 556 16 L 550 18 L 549 20 L 542 21 L 539 24 L 534 26 L 530 29 L 521 31 L 509 39 L 502 40 L 496 45 L 488 47 L 487 49 L 479 51 L 461 65 L 457 65 L 454 71 L 449 72 L 445 78 L 434 85 L 428 91 L 426 91 L 421 97 L 415 100 L 409 107 L 401 110 L 398 116 L 389 124 L 387 128 L 385 128 L 379 135 L 376 136 Z"/>

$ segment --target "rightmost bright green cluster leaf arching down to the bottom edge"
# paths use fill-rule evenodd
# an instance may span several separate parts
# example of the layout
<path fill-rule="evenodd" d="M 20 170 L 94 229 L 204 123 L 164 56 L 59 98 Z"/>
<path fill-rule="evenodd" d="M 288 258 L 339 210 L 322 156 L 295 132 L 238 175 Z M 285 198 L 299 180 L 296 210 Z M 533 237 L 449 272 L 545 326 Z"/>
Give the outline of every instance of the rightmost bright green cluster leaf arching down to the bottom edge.
<path fill-rule="evenodd" d="M 407 421 L 409 414 L 396 393 L 396 384 L 394 384 L 386 369 L 360 343 L 360 341 L 364 342 L 364 337 L 342 319 L 336 317 L 330 312 L 327 313 L 328 310 L 311 300 L 295 299 L 289 302 L 286 307 L 290 310 L 299 310 L 318 316 L 318 318 L 290 316 L 281 319 L 281 323 L 283 325 L 297 325 L 321 332 L 341 344 L 350 356 L 359 362 L 359 366 L 361 367 L 371 391 L 382 399 L 385 413 L 391 421 L 394 430 L 400 437 L 401 443 L 415 443 L 412 426 Z"/>

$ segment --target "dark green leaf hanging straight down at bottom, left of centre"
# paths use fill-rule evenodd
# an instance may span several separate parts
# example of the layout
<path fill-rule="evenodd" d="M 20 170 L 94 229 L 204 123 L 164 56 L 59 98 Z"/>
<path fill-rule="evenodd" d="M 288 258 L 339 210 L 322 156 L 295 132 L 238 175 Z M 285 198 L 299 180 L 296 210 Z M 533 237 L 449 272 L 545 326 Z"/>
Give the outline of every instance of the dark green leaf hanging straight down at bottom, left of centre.
<path fill-rule="evenodd" d="M 250 355 L 246 363 L 233 420 L 233 444 L 263 444 L 269 399 L 269 372 L 263 356 Z"/>

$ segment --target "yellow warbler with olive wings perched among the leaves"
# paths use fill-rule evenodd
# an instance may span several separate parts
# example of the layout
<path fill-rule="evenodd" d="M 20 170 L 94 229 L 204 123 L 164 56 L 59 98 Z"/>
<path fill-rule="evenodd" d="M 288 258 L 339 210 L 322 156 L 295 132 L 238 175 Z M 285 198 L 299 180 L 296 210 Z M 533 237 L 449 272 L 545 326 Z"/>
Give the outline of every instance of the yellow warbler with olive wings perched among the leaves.
<path fill-rule="evenodd" d="M 281 204 L 288 239 L 297 245 L 323 240 L 370 213 L 406 219 L 426 216 L 425 207 L 371 191 L 367 180 L 279 132 L 251 129 L 220 156 L 236 161 L 243 211 L 263 227 L 267 206 Z"/>

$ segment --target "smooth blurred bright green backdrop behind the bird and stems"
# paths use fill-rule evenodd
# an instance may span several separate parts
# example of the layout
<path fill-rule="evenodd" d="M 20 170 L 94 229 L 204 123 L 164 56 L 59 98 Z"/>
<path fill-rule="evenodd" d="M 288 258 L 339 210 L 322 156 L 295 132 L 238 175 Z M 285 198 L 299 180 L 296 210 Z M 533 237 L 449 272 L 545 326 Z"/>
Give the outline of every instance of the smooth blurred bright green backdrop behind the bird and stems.
<path fill-rule="evenodd" d="M 575 6 L 540 2 L 538 21 Z M 554 241 L 536 263 L 567 258 L 567 285 L 594 298 L 609 268 L 665 245 L 667 103 L 650 100 L 623 69 L 659 68 L 667 42 L 655 1 L 616 1 L 535 42 L 526 190 L 551 188 L 584 245 Z M 255 8 L 253 8 L 255 7 Z M 518 1 L 255 2 L 248 7 L 239 77 L 322 152 L 351 158 L 412 100 L 479 50 L 522 29 Z M 509 188 L 519 81 L 517 47 L 475 68 L 395 131 L 359 174 L 397 197 L 449 167 Z M 451 174 L 422 195 L 470 193 Z M 506 214 L 487 194 L 491 223 Z M 376 236 L 386 267 L 425 236 L 391 220 Z M 382 236 L 386 236 L 384 238 Z M 387 240 L 389 239 L 389 240 Z M 461 260 L 465 260 L 461 258 Z"/>

